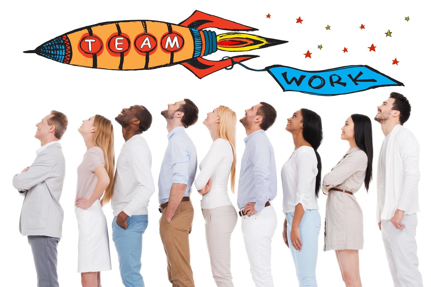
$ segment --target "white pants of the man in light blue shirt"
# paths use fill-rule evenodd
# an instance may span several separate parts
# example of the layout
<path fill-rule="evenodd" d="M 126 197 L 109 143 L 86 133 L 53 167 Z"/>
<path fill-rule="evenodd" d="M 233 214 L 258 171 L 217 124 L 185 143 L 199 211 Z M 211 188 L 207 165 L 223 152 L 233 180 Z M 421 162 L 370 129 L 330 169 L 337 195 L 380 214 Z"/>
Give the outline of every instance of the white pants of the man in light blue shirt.
<path fill-rule="evenodd" d="M 274 287 L 271 275 L 271 241 L 277 226 L 272 205 L 252 216 L 241 217 L 245 249 L 256 287 Z"/>

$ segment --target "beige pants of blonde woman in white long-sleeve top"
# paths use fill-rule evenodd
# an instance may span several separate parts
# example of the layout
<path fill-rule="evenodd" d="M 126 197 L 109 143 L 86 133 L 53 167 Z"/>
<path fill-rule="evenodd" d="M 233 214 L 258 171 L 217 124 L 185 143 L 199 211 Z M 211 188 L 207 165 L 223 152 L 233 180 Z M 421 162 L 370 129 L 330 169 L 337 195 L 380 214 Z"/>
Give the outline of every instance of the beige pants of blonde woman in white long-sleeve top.
<path fill-rule="evenodd" d="M 202 209 L 212 277 L 217 287 L 234 287 L 231 274 L 231 234 L 238 220 L 232 205 Z"/>

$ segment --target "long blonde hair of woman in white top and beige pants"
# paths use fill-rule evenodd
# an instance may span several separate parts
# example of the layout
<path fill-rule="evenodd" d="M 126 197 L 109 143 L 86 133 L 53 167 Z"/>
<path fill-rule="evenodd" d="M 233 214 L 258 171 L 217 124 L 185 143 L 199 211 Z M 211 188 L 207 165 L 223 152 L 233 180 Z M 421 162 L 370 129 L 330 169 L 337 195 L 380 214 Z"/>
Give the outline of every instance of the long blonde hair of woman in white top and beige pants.
<path fill-rule="evenodd" d="M 235 135 L 236 135 L 236 124 L 237 124 L 237 114 L 230 108 L 223 105 L 219 105 L 218 108 L 220 124 L 217 130 L 218 136 L 222 139 L 227 140 L 232 147 L 232 153 L 234 154 L 234 160 L 232 161 L 231 167 L 231 189 L 232 193 L 235 193 L 235 170 L 237 165 L 237 154 L 235 151 Z"/>

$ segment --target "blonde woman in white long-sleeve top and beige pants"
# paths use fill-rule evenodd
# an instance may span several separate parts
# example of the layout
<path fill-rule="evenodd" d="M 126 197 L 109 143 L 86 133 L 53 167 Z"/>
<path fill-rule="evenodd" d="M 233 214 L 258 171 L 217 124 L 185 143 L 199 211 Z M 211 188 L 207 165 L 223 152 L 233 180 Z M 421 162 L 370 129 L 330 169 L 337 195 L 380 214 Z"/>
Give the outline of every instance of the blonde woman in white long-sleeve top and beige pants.
<path fill-rule="evenodd" d="M 203 124 L 213 140 L 211 148 L 201 161 L 200 173 L 194 184 L 200 194 L 205 218 L 206 243 L 211 261 L 212 277 L 217 287 L 233 287 L 231 275 L 231 234 L 237 224 L 237 212 L 228 195 L 235 185 L 235 127 L 237 117 L 230 108 L 220 105 Z"/>

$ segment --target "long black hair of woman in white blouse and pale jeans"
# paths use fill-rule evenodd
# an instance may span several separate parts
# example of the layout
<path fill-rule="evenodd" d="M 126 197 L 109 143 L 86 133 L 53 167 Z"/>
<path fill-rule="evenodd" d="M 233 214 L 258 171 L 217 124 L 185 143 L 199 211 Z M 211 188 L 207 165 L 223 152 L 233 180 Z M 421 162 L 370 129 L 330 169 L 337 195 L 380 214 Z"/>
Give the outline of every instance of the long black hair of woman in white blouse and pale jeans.
<path fill-rule="evenodd" d="M 315 186 L 315 196 L 319 198 L 320 181 L 322 177 L 322 161 L 320 160 L 320 155 L 317 152 L 320 144 L 323 140 L 323 129 L 322 129 L 322 119 L 314 111 L 310 111 L 306 108 L 301 108 L 302 114 L 302 135 L 304 139 L 312 146 L 317 157 L 317 176 L 316 176 L 316 186 Z"/>

